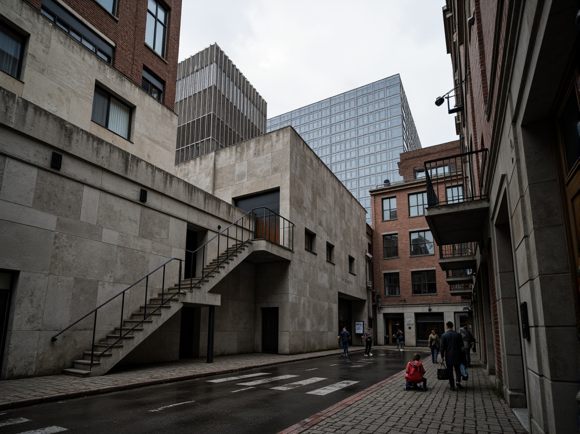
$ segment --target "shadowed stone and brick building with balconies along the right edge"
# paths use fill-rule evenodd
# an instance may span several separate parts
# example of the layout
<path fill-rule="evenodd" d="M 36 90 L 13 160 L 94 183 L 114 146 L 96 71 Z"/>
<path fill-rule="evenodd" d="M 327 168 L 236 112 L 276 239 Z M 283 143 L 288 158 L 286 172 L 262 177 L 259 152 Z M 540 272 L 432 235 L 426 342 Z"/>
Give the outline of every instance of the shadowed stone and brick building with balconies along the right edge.
<path fill-rule="evenodd" d="M 477 243 L 478 350 L 506 401 L 532 433 L 576 432 L 578 2 L 448 0 L 443 19 L 456 88 L 437 105 L 451 96 L 463 152 L 425 163 L 427 223 Z M 458 182 L 461 200 L 440 194 Z"/>

